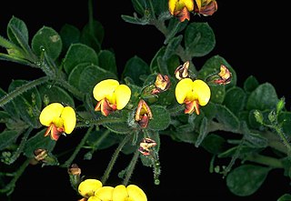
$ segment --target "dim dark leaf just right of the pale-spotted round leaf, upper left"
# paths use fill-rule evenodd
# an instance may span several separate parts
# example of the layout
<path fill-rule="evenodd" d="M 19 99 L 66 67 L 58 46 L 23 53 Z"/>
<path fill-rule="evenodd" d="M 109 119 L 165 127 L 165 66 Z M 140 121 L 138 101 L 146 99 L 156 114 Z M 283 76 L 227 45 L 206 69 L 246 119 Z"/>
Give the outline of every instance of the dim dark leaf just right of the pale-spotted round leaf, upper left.
<path fill-rule="evenodd" d="M 65 52 L 71 44 L 76 44 L 80 40 L 81 32 L 75 25 L 65 24 L 60 30 L 60 35 L 63 42 L 62 51 Z"/>

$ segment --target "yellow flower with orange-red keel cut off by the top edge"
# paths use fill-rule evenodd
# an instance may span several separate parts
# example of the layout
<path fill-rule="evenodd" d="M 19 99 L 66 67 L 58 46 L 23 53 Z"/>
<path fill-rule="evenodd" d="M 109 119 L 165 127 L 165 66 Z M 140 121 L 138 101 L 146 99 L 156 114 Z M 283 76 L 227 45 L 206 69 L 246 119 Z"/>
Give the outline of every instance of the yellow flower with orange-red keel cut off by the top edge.
<path fill-rule="evenodd" d="M 176 16 L 180 22 L 190 20 L 190 12 L 194 10 L 193 0 L 169 0 L 168 8 L 171 15 Z"/>

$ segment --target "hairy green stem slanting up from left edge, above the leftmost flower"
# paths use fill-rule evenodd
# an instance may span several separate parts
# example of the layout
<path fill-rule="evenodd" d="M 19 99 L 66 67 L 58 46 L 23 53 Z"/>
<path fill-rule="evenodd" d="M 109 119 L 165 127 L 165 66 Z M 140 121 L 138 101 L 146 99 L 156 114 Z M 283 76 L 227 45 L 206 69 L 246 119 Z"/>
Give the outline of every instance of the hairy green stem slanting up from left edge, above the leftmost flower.
<path fill-rule="evenodd" d="M 0 99 L 0 106 L 5 106 L 5 104 L 9 103 L 13 100 L 16 96 L 23 94 L 25 91 L 35 87 L 36 85 L 41 85 L 48 81 L 47 76 L 40 77 L 35 79 L 34 81 L 28 82 L 25 85 L 17 87 L 14 91 L 10 92 L 9 94 L 3 96 Z"/>

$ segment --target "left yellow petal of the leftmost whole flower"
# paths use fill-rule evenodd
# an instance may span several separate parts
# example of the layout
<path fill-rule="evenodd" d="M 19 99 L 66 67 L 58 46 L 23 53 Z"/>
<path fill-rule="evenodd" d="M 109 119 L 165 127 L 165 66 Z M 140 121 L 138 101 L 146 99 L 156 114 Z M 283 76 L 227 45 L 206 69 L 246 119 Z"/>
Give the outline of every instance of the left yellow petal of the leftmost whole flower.
<path fill-rule="evenodd" d="M 55 118 L 61 116 L 63 109 L 64 106 L 59 103 L 52 103 L 48 106 L 45 106 L 39 116 L 40 123 L 43 126 L 50 126 Z"/>

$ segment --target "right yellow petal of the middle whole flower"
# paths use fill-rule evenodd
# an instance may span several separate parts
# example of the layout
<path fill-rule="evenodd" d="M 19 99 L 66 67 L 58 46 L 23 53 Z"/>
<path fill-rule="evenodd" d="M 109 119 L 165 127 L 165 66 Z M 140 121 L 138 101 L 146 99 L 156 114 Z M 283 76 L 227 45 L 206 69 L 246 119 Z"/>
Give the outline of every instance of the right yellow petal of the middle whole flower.
<path fill-rule="evenodd" d="M 131 97 L 130 88 L 127 85 L 118 85 L 115 89 L 115 97 L 117 109 L 123 109 Z"/>

